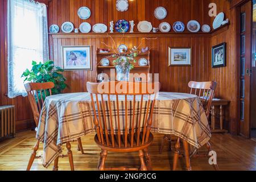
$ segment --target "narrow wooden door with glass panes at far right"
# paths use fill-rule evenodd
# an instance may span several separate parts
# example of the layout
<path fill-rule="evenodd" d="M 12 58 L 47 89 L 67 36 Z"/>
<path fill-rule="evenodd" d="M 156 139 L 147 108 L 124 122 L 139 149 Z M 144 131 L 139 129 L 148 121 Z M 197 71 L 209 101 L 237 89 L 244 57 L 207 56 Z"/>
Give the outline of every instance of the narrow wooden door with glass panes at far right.
<path fill-rule="evenodd" d="M 240 134 L 250 138 L 252 2 L 241 5 L 240 24 Z"/>

